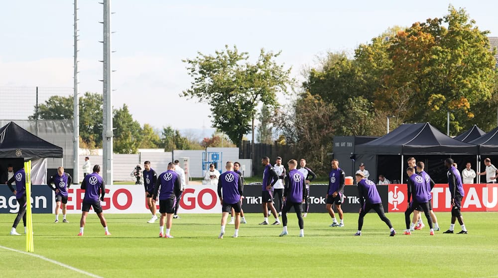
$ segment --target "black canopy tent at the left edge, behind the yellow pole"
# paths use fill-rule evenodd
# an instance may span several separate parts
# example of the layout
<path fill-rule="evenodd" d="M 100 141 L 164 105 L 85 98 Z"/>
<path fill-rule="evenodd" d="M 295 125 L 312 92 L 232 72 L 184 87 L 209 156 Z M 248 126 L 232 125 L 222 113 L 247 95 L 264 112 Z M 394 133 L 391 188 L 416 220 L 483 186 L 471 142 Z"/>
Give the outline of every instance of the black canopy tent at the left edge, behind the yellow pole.
<path fill-rule="evenodd" d="M 24 158 L 62 158 L 62 148 L 49 143 L 14 122 L 0 128 L 0 170 L 5 171 L 8 164 L 14 170 L 20 169 Z"/>

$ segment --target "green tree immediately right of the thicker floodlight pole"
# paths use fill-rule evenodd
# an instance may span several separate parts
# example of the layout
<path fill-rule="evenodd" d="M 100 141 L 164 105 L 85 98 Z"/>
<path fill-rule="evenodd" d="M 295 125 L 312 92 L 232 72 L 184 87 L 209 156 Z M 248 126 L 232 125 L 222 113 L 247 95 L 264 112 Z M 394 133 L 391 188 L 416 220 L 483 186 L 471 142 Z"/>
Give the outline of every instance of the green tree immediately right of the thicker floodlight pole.
<path fill-rule="evenodd" d="M 128 106 L 123 104 L 120 109 L 114 110 L 114 152 L 136 153 L 140 143 L 140 124 L 133 120 Z"/>

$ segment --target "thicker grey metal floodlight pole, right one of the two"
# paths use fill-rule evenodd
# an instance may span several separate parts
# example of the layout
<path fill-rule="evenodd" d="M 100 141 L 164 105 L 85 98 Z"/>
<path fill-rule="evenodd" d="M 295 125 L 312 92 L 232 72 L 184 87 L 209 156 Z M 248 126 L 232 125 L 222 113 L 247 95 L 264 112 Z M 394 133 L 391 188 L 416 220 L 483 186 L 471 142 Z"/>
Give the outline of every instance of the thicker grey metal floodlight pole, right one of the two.
<path fill-rule="evenodd" d="M 103 59 L 103 129 L 102 129 L 102 176 L 107 184 L 113 184 L 113 102 L 111 89 L 111 0 L 103 0 L 104 5 L 104 59 Z"/>

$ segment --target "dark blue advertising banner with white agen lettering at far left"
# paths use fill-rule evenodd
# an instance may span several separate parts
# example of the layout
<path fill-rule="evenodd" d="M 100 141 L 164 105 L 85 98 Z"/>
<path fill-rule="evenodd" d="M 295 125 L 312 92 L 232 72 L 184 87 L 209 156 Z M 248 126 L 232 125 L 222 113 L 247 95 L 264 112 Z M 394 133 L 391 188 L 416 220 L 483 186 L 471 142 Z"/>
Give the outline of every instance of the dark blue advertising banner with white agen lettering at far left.
<path fill-rule="evenodd" d="M 14 185 L 15 187 L 15 185 Z M 33 213 L 52 213 L 54 192 L 46 185 L 31 186 L 31 208 Z M 17 200 L 8 186 L 0 185 L 0 213 L 17 213 Z"/>

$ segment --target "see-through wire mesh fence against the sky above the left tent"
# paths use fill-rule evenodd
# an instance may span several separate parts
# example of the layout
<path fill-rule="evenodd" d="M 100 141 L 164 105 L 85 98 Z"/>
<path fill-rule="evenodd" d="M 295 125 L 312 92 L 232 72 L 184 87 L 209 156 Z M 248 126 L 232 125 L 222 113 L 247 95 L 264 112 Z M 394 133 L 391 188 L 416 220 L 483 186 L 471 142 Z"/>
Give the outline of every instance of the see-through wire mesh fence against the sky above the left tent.
<path fill-rule="evenodd" d="M 0 87 L 0 120 L 36 119 L 37 107 L 50 97 L 72 95 L 71 87 Z"/>

